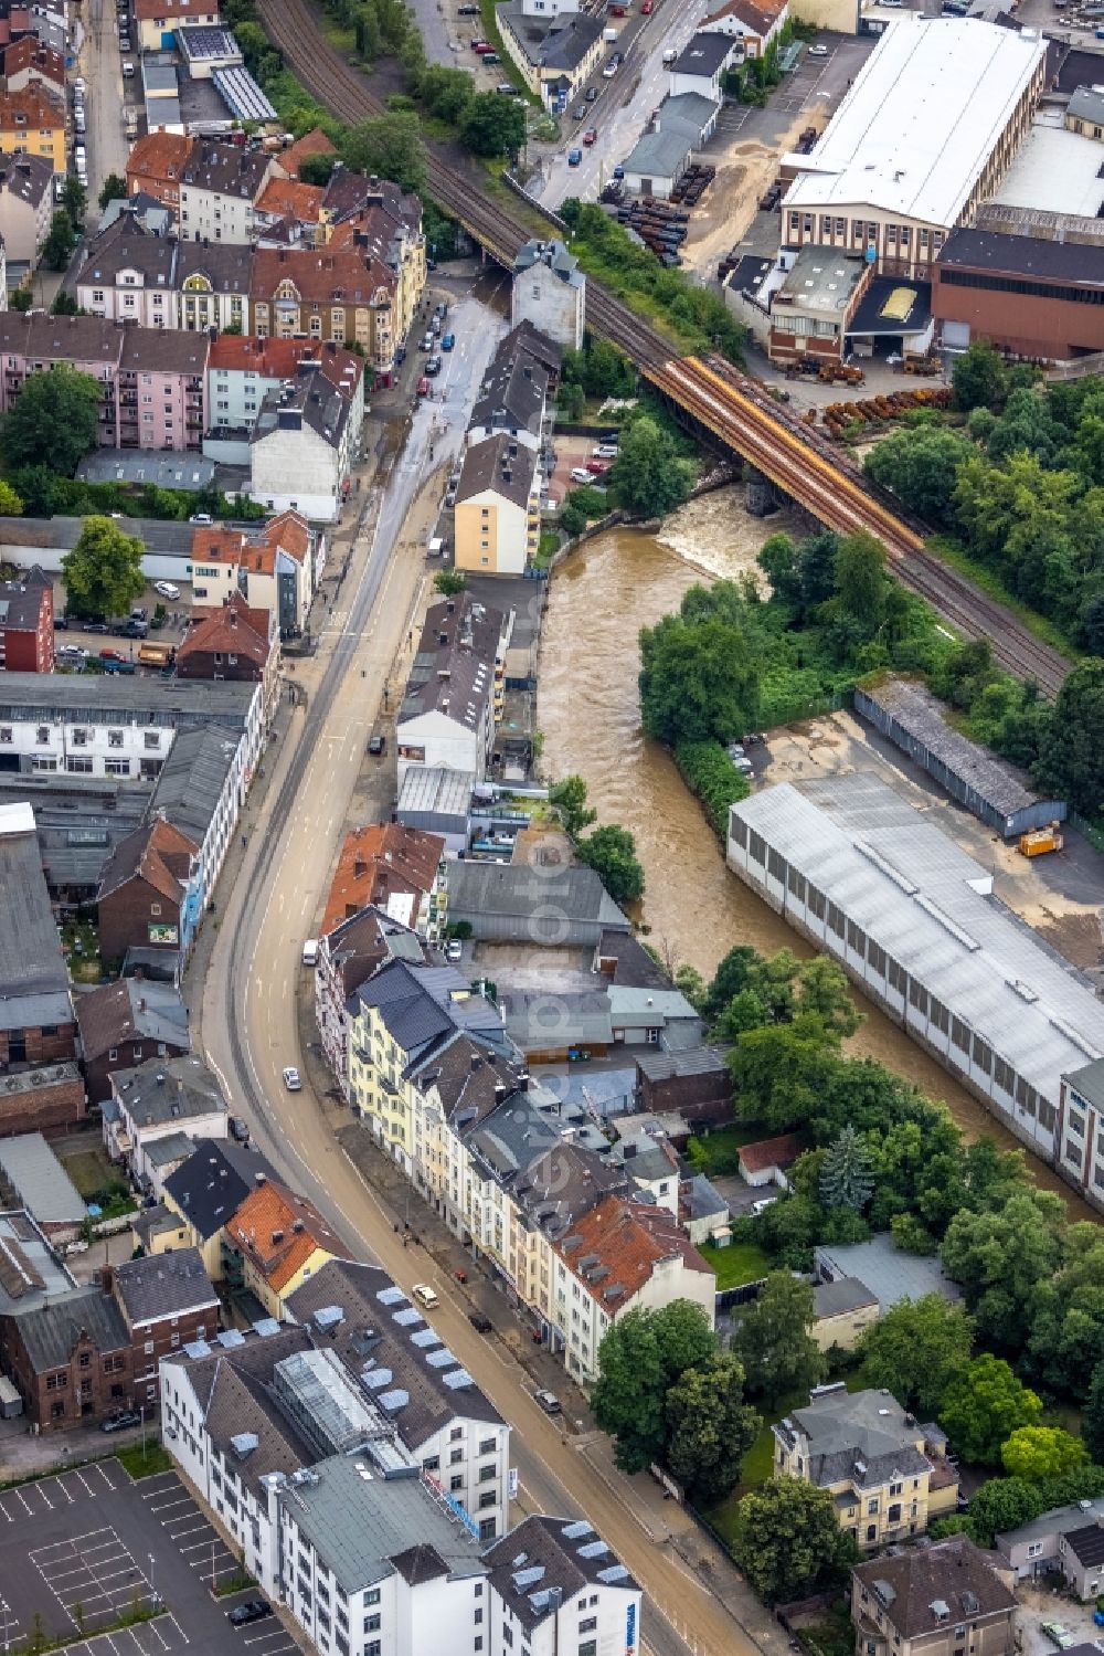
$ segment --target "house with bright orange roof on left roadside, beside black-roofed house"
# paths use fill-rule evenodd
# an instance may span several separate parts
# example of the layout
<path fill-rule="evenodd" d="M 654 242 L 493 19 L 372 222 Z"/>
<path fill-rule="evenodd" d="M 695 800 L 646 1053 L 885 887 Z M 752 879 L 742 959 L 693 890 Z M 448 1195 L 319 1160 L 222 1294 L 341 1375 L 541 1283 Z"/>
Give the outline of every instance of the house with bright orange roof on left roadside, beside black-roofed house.
<path fill-rule="evenodd" d="M 328 1260 L 348 1249 L 313 1202 L 265 1179 L 245 1197 L 223 1230 L 227 1278 L 253 1293 L 270 1317 L 283 1320 L 285 1300 Z"/>

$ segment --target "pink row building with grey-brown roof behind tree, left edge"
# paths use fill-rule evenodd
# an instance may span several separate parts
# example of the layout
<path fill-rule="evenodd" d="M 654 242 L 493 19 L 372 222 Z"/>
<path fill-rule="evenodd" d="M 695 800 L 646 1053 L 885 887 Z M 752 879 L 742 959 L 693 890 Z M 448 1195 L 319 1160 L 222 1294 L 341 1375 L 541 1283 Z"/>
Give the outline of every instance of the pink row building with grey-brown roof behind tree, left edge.
<path fill-rule="evenodd" d="M 111 449 L 199 449 L 207 412 L 207 335 L 103 316 L 0 311 L 0 414 L 28 374 L 68 363 L 98 379 L 99 442 Z"/>

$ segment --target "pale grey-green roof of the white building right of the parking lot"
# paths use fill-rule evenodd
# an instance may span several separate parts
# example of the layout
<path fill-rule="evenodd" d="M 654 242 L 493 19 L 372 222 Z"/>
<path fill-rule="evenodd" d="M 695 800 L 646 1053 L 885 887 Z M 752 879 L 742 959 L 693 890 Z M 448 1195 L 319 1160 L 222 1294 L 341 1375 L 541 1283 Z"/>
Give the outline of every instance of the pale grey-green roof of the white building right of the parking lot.
<path fill-rule="evenodd" d="M 382 1477 L 372 1467 L 362 1475 L 356 1461 L 331 1456 L 311 1467 L 295 1495 L 285 1490 L 280 1500 L 344 1593 L 386 1581 L 396 1570 L 406 1575 L 409 1562 L 419 1580 L 427 1570 L 440 1577 L 487 1573 L 478 1542 L 442 1510 L 417 1472 Z M 407 1560 L 419 1547 L 434 1557 Z"/>

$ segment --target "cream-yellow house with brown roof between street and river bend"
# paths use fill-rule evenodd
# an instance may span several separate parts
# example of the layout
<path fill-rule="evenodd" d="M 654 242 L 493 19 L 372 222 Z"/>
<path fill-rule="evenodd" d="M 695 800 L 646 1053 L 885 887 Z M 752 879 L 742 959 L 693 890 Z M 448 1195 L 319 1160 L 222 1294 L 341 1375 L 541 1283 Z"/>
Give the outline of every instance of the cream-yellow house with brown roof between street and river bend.
<path fill-rule="evenodd" d="M 472 444 L 454 507 L 457 570 L 525 575 L 540 545 L 543 487 L 536 450 L 528 444 L 505 432 Z"/>

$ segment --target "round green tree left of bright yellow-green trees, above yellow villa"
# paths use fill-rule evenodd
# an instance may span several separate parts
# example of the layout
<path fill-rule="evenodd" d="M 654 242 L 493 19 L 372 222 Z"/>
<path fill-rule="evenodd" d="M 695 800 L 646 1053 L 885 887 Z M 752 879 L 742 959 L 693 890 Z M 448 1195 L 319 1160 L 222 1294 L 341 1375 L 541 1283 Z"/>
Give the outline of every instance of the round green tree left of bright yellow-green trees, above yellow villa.
<path fill-rule="evenodd" d="M 950 1383 L 970 1363 L 973 1325 L 940 1293 L 899 1300 L 862 1331 L 859 1353 L 871 1386 L 892 1391 L 902 1408 L 934 1419 Z"/>

